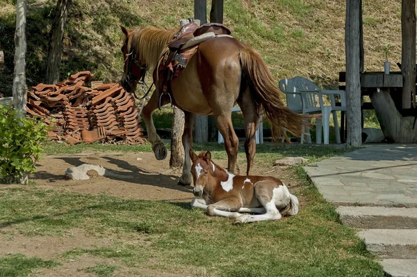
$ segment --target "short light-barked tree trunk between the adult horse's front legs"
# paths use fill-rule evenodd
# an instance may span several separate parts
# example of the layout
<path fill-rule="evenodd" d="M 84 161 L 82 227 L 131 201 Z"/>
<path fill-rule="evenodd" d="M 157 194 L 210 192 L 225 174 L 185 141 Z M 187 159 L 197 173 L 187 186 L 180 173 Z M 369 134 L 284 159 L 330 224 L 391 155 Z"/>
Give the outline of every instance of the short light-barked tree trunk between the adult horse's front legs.
<path fill-rule="evenodd" d="M 174 117 L 172 118 L 170 168 L 177 169 L 183 166 L 185 157 L 182 145 L 184 113 L 176 106 L 173 107 L 172 111 L 174 113 Z"/>

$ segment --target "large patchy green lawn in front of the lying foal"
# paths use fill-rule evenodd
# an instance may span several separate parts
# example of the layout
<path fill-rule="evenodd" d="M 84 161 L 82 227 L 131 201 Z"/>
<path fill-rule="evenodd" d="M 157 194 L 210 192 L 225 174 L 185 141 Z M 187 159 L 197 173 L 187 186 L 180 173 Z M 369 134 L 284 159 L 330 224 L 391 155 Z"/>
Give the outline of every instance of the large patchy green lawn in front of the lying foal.
<path fill-rule="evenodd" d="M 152 260 L 154 269 L 190 269 L 207 276 L 382 276 L 354 230 L 339 223 L 334 207 L 300 169 L 294 171 L 304 180 L 297 195 L 306 203 L 300 214 L 283 221 L 235 226 L 188 203 L 28 188 L 0 190 L 0 226 L 28 236 L 64 235 L 79 228 L 104 238 L 127 237 L 63 254 L 65 259 L 119 260 L 125 269 L 147 267 Z M 90 270 L 110 274 L 115 269 L 100 265 Z"/>

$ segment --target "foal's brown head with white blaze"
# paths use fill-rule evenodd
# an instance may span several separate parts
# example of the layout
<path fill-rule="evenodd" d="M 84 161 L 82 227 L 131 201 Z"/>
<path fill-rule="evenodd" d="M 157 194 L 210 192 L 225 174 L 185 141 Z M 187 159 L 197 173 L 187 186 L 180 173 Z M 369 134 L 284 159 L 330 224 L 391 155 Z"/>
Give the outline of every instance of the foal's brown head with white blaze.
<path fill-rule="evenodd" d="M 195 196 L 203 195 L 204 187 L 208 183 L 208 175 L 212 168 L 211 152 L 202 152 L 199 155 L 195 154 L 193 149 L 190 149 L 190 159 L 193 163 L 191 166 L 191 174 L 193 174 Z"/>

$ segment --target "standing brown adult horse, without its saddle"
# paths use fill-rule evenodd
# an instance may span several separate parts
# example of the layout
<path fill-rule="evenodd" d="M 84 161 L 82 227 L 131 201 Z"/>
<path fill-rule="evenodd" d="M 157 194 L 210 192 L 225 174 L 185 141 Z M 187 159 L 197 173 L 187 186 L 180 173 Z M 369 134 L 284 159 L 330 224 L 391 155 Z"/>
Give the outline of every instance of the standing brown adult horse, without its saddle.
<path fill-rule="evenodd" d="M 134 27 L 126 30 L 122 27 L 122 31 L 126 38 L 122 47 L 124 74 L 121 83 L 126 91 L 134 93 L 138 81 L 147 70 L 156 67 L 167 42 L 172 40 L 179 29 Z M 194 114 L 214 115 L 216 126 L 224 138 L 227 169 L 231 173 L 238 171 L 236 160 L 239 141 L 231 124 L 231 109 L 236 103 L 245 118 L 247 174 L 256 152 L 255 134 L 261 109 L 275 122 L 278 129 L 286 129 L 295 136 L 300 136 L 303 120 L 306 119 L 284 105 L 279 89 L 261 56 L 231 37 L 212 38 L 200 44 L 179 77 L 170 82 L 170 88 L 172 104 L 185 113 L 182 136 L 185 152 L 193 145 Z M 144 107 L 142 117 L 156 159 L 165 159 L 167 150 L 156 134 L 152 120 L 153 111 L 158 109 L 158 101 L 154 93 Z M 167 103 L 169 100 L 163 98 L 162 104 Z M 190 166 L 190 159 L 186 155 L 180 184 L 191 184 Z"/>

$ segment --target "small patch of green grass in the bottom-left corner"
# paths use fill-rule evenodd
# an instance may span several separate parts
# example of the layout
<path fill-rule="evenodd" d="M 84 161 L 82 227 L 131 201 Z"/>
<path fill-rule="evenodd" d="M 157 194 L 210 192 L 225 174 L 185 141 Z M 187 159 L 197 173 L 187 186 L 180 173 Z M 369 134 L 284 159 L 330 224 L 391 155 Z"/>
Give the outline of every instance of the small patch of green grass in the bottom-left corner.
<path fill-rule="evenodd" d="M 0 277 L 28 276 L 33 269 L 56 267 L 58 262 L 28 258 L 22 254 L 0 257 Z"/>

